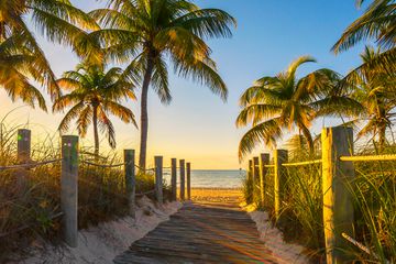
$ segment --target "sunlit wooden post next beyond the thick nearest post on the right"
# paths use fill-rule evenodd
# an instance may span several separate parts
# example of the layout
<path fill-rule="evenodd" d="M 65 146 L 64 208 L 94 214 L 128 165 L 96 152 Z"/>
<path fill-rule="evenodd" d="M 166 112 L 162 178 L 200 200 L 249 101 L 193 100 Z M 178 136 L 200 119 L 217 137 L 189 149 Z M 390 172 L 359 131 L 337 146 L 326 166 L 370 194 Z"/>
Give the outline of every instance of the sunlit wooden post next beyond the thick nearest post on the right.
<path fill-rule="evenodd" d="M 286 150 L 275 150 L 274 151 L 274 206 L 275 206 L 275 218 L 279 218 L 280 204 L 284 196 L 284 185 L 286 177 L 286 169 L 282 166 L 283 163 L 287 162 L 287 151 Z"/>

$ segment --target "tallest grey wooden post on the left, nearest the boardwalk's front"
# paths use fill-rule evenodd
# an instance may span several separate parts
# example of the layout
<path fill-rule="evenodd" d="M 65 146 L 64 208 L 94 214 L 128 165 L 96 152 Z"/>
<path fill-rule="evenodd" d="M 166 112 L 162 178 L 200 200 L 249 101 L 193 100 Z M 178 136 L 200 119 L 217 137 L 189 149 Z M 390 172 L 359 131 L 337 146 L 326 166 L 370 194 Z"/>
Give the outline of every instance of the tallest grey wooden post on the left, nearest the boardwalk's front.
<path fill-rule="evenodd" d="M 62 136 L 61 209 L 65 242 L 77 248 L 78 136 Z"/>

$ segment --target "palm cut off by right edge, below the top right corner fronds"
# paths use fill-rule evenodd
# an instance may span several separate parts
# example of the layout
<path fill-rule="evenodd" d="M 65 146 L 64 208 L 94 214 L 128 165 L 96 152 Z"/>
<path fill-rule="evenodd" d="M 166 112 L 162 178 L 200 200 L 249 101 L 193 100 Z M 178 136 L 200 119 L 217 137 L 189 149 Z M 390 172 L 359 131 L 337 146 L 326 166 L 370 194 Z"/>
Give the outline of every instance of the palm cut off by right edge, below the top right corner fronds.
<path fill-rule="evenodd" d="M 381 50 L 366 46 L 361 54 L 363 64 L 371 65 L 371 62 L 381 56 Z M 369 122 L 359 132 L 359 136 L 373 134 L 378 136 L 378 146 L 385 146 L 386 130 L 392 127 L 392 119 L 396 117 L 393 111 L 396 108 L 396 75 L 388 74 L 382 67 L 372 67 L 363 73 L 355 70 L 348 79 L 355 87 L 354 97 L 365 108 L 365 118 Z M 352 78 L 354 77 L 354 78 Z"/>

